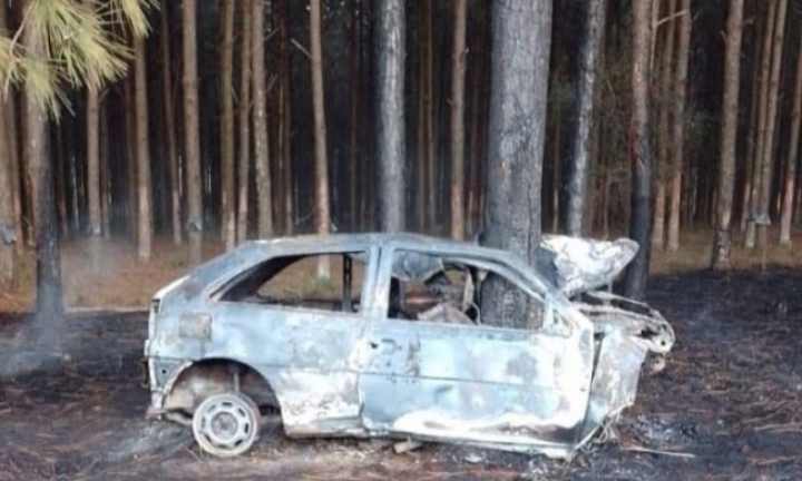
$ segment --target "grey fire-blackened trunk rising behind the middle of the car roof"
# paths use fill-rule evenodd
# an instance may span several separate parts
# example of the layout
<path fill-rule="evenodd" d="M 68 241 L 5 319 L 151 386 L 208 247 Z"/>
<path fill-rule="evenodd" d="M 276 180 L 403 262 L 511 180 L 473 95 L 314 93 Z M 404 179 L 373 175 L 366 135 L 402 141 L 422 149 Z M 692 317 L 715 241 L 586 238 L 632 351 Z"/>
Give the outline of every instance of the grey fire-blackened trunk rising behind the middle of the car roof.
<path fill-rule="evenodd" d="M 379 222 L 384 232 L 401 232 L 407 226 L 404 195 L 405 125 L 404 98 L 404 2 L 379 2 L 376 24 L 376 89 L 379 92 Z"/>

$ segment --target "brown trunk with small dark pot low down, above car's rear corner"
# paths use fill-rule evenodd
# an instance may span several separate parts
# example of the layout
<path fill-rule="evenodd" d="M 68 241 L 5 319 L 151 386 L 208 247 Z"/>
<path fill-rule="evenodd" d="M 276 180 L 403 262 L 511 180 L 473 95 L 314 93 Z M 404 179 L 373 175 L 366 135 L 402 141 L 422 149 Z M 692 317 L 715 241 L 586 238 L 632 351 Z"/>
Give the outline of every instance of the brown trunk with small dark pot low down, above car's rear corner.
<path fill-rule="evenodd" d="M 200 132 L 198 117 L 197 0 L 183 0 L 184 53 L 184 166 L 186 167 L 187 236 L 189 263 L 203 258 L 203 184 L 200 181 Z"/>

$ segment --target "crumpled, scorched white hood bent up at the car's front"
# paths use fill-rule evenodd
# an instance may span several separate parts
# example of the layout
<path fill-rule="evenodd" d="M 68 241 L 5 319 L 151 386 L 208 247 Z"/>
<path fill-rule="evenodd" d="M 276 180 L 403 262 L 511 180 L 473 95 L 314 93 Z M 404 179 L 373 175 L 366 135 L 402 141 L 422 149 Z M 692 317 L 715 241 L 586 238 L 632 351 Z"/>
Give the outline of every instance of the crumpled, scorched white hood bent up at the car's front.
<path fill-rule="evenodd" d="M 638 248 L 638 244 L 628 238 L 599 240 L 545 235 L 537 268 L 563 294 L 573 297 L 612 284 Z"/>

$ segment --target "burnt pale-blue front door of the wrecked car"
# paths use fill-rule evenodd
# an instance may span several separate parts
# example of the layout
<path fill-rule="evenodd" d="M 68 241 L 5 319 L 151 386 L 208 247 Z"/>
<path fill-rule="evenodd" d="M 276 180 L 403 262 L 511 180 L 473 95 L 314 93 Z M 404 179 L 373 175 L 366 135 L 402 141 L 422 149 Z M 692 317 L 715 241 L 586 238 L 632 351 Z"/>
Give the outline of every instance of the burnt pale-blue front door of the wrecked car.
<path fill-rule="evenodd" d="M 382 257 L 384 292 L 391 291 L 395 254 Z M 587 409 L 593 327 L 569 318 L 545 293 L 537 298 L 516 276 L 508 282 L 542 304 L 545 327 L 391 318 L 389 308 L 371 324 L 360 375 L 365 426 L 540 449 L 576 439 Z"/>

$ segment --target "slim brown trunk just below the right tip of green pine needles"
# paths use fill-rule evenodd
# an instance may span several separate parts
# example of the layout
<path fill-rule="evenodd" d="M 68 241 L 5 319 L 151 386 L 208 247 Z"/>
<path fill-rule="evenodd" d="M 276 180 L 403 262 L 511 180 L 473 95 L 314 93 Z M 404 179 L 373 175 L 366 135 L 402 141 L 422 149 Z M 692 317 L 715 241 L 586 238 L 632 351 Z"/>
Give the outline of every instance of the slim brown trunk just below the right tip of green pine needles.
<path fill-rule="evenodd" d="M 147 69 L 145 68 L 145 38 L 134 39 L 134 55 L 136 62 L 135 95 L 136 95 L 136 153 L 137 153 L 137 190 L 138 190 L 138 229 L 137 247 L 141 261 L 150 261 L 150 243 L 153 225 L 150 215 L 150 141 L 148 138 L 148 100 L 147 100 Z"/>

